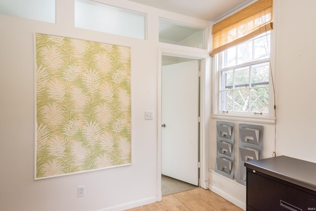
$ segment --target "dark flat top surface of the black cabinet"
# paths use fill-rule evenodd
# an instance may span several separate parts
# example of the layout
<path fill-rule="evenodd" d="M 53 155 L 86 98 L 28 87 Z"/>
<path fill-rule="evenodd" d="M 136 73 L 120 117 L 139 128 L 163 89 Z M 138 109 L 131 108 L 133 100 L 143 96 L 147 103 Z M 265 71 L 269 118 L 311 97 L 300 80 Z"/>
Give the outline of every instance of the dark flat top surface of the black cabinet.
<path fill-rule="evenodd" d="M 245 167 L 316 191 L 316 164 L 287 156 L 247 161 Z"/>

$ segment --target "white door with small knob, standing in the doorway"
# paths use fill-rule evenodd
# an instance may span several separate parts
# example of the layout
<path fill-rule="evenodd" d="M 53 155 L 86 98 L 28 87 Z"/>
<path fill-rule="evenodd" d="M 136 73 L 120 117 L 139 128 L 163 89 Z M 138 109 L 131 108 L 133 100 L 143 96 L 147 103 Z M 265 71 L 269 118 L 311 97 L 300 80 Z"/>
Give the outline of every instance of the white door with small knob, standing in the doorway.
<path fill-rule="evenodd" d="M 198 60 L 162 67 L 161 173 L 198 185 Z"/>

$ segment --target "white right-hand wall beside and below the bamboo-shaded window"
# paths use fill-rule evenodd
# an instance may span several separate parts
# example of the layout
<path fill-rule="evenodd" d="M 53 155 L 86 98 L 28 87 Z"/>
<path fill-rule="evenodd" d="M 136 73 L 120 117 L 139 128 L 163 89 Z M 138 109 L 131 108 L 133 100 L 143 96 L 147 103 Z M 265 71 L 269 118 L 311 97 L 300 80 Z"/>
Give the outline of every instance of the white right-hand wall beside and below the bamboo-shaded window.
<path fill-rule="evenodd" d="M 274 0 L 274 30 L 276 31 L 276 155 L 285 155 L 316 163 L 316 20 L 315 0 Z M 272 55 L 273 56 L 273 55 Z M 210 123 L 209 168 L 214 169 L 216 158 L 216 119 Z M 234 121 L 235 127 L 240 121 Z M 261 125 L 261 124 L 257 124 Z M 264 126 L 263 158 L 272 157 L 275 126 Z M 238 136 L 235 133 L 235 140 Z M 237 145 L 236 145 L 237 147 Z M 236 153 L 236 156 L 238 154 Z M 237 158 L 237 157 L 236 157 Z M 235 169 L 236 172 L 236 169 Z M 225 178 L 209 172 L 210 189 L 240 205 L 244 199 L 224 187 Z M 236 175 L 236 174 L 235 174 Z M 232 182 L 233 187 L 239 188 Z M 245 203 L 245 201 L 243 201 Z M 245 208 L 245 206 L 239 206 Z"/>

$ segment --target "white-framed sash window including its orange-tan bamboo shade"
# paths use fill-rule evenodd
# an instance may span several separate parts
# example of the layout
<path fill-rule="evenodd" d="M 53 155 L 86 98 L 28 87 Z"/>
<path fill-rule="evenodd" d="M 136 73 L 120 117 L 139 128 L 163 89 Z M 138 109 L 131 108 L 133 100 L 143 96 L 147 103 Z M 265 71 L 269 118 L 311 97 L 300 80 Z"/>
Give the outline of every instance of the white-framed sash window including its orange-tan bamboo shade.
<path fill-rule="evenodd" d="M 272 20 L 273 0 L 257 0 L 213 25 L 216 114 L 272 117 Z"/>

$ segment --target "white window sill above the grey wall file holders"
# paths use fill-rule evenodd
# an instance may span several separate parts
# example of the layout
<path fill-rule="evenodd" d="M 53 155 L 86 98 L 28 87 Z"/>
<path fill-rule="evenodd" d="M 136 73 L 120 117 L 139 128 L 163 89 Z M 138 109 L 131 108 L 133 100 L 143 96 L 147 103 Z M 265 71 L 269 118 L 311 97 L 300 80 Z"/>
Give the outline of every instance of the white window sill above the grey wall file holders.
<path fill-rule="evenodd" d="M 245 115 L 228 115 L 228 114 L 212 114 L 211 117 L 212 119 L 215 119 L 215 120 L 276 125 L 276 118 L 274 117 L 253 117 L 253 116 L 245 116 Z"/>

